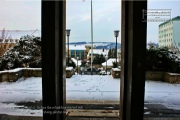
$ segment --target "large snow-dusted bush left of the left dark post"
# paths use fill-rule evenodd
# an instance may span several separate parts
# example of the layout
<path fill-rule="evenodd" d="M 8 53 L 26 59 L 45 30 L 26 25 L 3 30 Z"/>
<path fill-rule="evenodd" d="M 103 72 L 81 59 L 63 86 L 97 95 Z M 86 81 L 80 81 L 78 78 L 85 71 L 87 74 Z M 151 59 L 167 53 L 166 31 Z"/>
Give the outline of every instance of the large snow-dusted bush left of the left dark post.
<path fill-rule="evenodd" d="M 0 70 L 18 67 L 41 67 L 41 38 L 33 35 L 22 36 L 13 48 L 0 58 Z"/>

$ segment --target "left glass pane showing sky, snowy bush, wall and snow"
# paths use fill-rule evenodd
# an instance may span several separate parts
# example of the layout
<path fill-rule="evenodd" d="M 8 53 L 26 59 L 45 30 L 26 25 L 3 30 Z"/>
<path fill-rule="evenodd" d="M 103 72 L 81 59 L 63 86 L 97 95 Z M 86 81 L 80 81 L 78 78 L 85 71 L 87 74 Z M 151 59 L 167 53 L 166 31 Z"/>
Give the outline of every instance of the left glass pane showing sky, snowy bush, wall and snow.
<path fill-rule="evenodd" d="M 0 8 L 0 116 L 43 119 L 41 1 L 1 0 Z"/>

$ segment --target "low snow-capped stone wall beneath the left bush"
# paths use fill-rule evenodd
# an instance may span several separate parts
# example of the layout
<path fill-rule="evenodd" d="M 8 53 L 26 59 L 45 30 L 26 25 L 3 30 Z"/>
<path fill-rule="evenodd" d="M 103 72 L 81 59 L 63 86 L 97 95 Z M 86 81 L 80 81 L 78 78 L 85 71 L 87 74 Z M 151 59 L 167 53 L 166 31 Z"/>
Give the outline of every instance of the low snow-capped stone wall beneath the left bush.
<path fill-rule="evenodd" d="M 41 68 L 16 68 L 0 71 L 0 82 L 15 82 L 21 77 L 42 77 Z"/>

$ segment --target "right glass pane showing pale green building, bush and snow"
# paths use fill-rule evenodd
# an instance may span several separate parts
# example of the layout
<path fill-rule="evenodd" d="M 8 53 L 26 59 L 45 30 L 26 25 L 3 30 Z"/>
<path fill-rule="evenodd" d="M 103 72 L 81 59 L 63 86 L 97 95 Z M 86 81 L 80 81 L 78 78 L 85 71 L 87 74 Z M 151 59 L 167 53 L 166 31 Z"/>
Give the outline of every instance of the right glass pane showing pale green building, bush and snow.
<path fill-rule="evenodd" d="M 144 117 L 180 118 L 179 6 L 148 1 Z"/>

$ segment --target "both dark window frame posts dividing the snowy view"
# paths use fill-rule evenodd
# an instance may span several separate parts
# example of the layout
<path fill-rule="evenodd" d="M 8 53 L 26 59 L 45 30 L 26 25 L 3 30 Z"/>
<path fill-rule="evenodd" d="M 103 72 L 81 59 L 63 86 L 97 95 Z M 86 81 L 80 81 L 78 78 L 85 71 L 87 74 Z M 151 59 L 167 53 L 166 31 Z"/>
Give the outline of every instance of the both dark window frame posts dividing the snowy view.
<path fill-rule="evenodd" d="M 147 0 L 122 0 L 121 2 L 121 36 L 123 37 L 121 41 L 122 72 L 119 117 L 120 120 L 140 120 L 143 119 L 144 111 L 147 26 L 146 22 L 142 22 L 142 10 L 147 10 Z M 127 22 L 125 22 L 126 20 Z M 64 106 L 66 104 L 65 30 L 66 1 L 42 0 L 43 107 Z M 138 73 L 137 70 L 139 70 Z M 136 95 L 138 95 L 138 101 Z M 48 109 L 51 112 L 54 110 Z M 45 114 L 44 111 L 47 109 L 43 109 L 43 120 L 66 119 L 63 109 L 61 110 L 63 114 L 50 115 Z"/>

